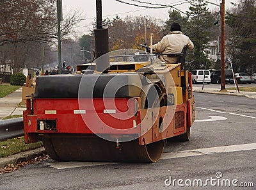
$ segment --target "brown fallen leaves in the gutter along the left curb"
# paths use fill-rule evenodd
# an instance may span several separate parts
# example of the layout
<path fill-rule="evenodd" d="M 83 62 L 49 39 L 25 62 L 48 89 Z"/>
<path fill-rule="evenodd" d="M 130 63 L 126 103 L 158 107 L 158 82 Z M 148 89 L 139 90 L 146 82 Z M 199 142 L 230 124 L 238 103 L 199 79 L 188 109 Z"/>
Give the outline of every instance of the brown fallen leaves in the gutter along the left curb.
<path fill-rule="evenodd" d="M 32 164 L 34 162 L 42 162 L 42 161 L 45 161 L 47 159 L 49 159 L 49 155 L 43 155 L 43 156 L 35 157 L 35 159 L 33 159 L 33 160 L 19 162 L 15 165 L 8 164 L 4 168 L 0 168 L 0 175 L 3 175 L 4 173 L 10 173 L 12 171 L 18 170 L 19 168 L 22 168 L 22 167 L 24 167 L 28 164 Z"/>

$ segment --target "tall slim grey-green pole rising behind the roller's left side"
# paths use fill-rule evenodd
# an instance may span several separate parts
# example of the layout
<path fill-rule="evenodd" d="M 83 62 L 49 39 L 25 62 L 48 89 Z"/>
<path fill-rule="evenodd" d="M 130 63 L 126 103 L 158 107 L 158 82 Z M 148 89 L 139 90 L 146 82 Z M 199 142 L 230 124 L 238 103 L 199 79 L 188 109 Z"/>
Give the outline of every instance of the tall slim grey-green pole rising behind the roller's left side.
<path fill-rule="evenodd" d="M 62 21 L 62 0 L 57 0 L 57 20 L 58 20 L 58 62 L 59 74 L 61 74 L 61 36 L 60 36 L 60 22 Z"/>

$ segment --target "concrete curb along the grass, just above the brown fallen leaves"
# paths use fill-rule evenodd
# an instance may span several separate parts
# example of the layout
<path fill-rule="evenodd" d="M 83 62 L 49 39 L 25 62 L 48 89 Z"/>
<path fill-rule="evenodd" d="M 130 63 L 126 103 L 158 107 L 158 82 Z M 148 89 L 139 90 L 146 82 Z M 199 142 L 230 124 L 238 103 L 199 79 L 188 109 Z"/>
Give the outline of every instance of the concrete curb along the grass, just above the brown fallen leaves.
<path fill-rule="evenodd" d="M 35 159 L 40 155 L 45 155 L 46 152 L 44 147 L 36 148 L 34 150 L 28 150 L 26 152 L 20 152 L 18 154 L 13 154 L 8 157 L 0 158 L 0 168 L 4 168 L 8 164 L 17 164 L 19 162 L 29 161 L 31 159 Z"/>

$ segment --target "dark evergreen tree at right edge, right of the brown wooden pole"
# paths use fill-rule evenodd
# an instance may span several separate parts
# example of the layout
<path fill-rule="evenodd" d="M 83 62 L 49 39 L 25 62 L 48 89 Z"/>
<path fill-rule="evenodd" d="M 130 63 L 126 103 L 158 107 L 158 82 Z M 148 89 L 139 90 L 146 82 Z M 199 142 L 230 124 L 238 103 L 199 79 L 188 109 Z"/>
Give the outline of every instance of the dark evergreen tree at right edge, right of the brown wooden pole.
<path fill-rule="evenodd" d="M 232 28 L 227 54 L 236 72 L 255 72 L 256 67 L 256 2 L 240 1 L 227 12 L 226 23 Z"/>

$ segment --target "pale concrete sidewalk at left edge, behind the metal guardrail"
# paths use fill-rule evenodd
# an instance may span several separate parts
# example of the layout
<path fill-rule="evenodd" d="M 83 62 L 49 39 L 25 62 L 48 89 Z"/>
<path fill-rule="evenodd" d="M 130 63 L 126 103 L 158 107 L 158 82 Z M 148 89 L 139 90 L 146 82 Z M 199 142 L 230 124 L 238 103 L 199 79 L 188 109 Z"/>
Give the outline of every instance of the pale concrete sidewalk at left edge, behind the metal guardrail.
<path fill-rule="evenodd" d="M 0 120 L 9 115 L 22 115 L 26 107 L 16 107 L 21 102 L 22 88 L 0 99 Z"/>

